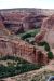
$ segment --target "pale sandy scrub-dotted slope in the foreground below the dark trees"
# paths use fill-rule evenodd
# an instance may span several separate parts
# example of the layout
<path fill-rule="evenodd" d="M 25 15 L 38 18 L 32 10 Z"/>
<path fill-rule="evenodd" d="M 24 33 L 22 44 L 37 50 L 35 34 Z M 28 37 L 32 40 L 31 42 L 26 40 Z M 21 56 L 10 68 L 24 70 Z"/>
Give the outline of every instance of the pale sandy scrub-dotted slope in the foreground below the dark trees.
<path fill-rule="evenodd" d="M 54 76 L 54 59 L 51 60 L 48 66 L 39 70 L 29 71 L 11 78 L 9 77 L 3 81 L 46 81 L 50 76 Z"/>

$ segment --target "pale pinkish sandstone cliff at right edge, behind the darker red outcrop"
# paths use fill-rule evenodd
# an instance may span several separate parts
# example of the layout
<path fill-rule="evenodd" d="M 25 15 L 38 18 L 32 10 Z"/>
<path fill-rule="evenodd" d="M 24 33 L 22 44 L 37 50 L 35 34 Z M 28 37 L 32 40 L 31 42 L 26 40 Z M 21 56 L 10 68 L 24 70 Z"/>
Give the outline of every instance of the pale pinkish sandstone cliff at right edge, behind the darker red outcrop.
<path fill-rule="evenodd" d="M 43 21 L 42 29 L 46 30 L 43 40 L 49 42 L 50 46 L 54 49 L 54 15 Z"/>

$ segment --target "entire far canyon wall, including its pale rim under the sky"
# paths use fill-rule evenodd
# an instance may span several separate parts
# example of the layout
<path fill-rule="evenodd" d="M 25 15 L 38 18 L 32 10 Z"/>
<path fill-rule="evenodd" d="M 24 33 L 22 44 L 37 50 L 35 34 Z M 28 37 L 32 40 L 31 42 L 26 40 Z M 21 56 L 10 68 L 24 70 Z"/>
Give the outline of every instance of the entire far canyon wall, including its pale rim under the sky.
<path fill-rule="evenodd" d="M 43 18 L 48 16 L 48 13 L 44 13 L 42 10 L 37 9 L 1 10 L 1 24 L 11 33 L 19 33 L 29 29 L 41 27 Z"/>

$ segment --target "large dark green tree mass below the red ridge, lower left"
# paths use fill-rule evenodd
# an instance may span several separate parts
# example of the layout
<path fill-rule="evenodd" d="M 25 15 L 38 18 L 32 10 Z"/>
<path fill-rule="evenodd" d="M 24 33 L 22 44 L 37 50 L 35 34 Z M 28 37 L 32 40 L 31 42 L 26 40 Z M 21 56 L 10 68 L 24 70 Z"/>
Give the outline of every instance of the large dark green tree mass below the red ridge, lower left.
<path fill-rule="evenodd" d="M 13 65 L 0 65 L 0 78 L 5 78 L 5 77 L 12 77 L 18 73 L 23 73 L 23 72 L 27 72 L 30 70 L 35 70 L 35 69 L 39 69 L 41 66 L 40 65 L 36 65 L 36 64 L 30 64 L 26 60 L 23 60 L 18 57 L 14 57 L 14 56 L 5 56 L 2 57 L 3 60 L 6 59 L 14 59 L 17 62 L 16 66 Z M 1 59 L 0 59 L 1 60 Z"/>

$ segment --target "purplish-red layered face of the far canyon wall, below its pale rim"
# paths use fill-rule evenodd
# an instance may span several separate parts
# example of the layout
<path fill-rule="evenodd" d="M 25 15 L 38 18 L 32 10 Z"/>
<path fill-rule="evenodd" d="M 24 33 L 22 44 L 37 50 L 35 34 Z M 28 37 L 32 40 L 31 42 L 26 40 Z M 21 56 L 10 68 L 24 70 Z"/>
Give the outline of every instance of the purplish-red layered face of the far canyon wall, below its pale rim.
<path fill-rule="evenodd" d="M 45 16 L 37 16 L 32 13 L 3 13 L 2 19 L 6 29 L 11 32 L 19 33 L 28 29 L 33 29 L 36 26 L 41 26 L 42 19 Z M 40 17 L 41 16 L 41 17 Z"/>

